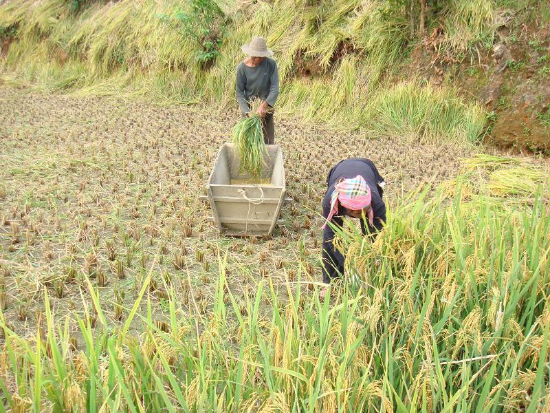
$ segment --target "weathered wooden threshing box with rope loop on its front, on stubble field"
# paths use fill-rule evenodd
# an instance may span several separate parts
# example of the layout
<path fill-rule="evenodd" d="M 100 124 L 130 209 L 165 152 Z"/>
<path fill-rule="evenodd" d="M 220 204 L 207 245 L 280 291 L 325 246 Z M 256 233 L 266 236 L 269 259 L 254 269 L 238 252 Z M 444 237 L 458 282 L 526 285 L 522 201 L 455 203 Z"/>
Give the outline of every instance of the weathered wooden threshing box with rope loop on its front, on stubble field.
<path fill-rule="evenodd" d="M 266 147 L 265 166 L 256 180 L 248 174 L 239 174 L 239 155 L 232 143 L 224 143 L 219 149 L 206 192 L 221 233 L 270 235 L 273 232 L 285 202 L 285 168 L 281 147 Z"/>

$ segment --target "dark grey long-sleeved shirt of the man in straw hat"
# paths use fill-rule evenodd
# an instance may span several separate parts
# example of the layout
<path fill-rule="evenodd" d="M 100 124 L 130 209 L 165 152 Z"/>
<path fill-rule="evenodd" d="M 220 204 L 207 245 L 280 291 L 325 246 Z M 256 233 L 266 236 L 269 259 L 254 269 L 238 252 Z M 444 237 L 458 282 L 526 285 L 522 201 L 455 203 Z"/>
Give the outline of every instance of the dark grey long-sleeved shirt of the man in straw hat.
<path fill-rule="evenodd" d="M 241 63 L 236 68 L 235 92 L 243 114 L 250 112 L 249 102 L 254 98 L 265 100 L 273 107 L 279 94 L 277 63 L 268 57 L 256 67 Z"/>

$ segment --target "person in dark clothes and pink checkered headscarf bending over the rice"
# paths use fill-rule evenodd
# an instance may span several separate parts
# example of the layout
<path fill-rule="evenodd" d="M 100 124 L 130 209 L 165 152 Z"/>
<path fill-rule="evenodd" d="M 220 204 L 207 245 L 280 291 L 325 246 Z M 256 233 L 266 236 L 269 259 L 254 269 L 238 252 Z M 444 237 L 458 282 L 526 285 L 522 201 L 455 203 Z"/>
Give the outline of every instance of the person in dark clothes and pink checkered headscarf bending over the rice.
<path fill-rule="evenodd" d="M 322 226 L 323 282 L 344 273 L 344 256 L 333 245 L 334 229 L 342 226 L 342 217 L 359 218 L 363 235 L 372 236 L 386 222 L 386 204 L 382 200 L 384 179 L 369 159 L 352 158 L 340 161 L 327 177 L 327 192 L 322 201 L 325 224 Z M 325 297 L 328 287 L 322 291 Z"/>

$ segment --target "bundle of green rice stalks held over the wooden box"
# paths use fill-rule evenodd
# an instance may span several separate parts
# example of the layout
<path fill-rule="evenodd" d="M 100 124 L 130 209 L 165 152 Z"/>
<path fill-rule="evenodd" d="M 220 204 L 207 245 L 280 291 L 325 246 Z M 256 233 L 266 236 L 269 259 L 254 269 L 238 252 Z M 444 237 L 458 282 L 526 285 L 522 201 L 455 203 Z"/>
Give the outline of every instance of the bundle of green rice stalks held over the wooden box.
<path fill-rule="evenodd" d="M 239 173 L 248 171 L 255 178 L 262 171 L 263 156 L 267 149 L 263 142 L 262 118 L 257 113 L 249 114 L 233 128 L 233 143 L 239 151 Z"/>

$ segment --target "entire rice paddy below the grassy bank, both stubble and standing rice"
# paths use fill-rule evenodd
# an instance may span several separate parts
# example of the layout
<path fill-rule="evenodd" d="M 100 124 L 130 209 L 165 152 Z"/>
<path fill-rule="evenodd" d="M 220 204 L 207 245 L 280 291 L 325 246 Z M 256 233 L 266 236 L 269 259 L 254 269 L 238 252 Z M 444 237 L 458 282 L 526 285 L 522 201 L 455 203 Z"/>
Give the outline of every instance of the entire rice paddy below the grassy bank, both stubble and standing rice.
<path fill-rule="evenodd" d="M 0 411 L 547 408 L 547 162 L 277 120 L 294 202 L 270 239 L 221 237 L 201 195 L 237 120 L 0 89 Z M 344 226 L 323 300 L 349 157 L 390 213 L 373 244 Z"/>

